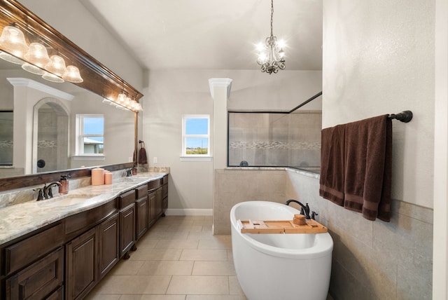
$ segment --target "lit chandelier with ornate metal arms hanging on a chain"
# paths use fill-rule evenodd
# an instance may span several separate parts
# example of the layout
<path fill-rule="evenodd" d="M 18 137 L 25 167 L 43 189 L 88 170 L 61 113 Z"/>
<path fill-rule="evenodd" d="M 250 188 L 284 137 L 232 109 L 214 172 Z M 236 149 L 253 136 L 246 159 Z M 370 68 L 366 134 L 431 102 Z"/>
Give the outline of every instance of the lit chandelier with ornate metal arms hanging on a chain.
<path fill-rule="evenodd" d="M 257 62 L 261 65 L 261 71 L 269 74 L 276 73 L 279 69 L 285 69 L 283 49 L 272 33 L 274 16 L 274 0 L 271 0 L 271 35 L 266 38 L 265 45 L 260 45 Z"/>

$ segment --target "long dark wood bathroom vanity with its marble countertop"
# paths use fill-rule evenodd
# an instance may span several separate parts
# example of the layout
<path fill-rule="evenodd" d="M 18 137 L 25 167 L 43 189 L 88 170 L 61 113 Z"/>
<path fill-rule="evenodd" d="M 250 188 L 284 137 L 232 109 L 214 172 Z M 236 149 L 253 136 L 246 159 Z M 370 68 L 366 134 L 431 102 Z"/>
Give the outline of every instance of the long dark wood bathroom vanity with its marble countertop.
<path fill-rule="evenodd" d="M 83 299 L 165 214 L 167 173 L 144 176 L 1 208 L 0 298 Z"/>

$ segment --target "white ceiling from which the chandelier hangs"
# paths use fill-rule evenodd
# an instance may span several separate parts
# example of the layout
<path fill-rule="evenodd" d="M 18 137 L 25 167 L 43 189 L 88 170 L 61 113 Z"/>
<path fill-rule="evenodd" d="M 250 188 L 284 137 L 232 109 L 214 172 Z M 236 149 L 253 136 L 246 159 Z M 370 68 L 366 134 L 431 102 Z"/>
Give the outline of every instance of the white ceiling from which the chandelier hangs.
<path fill-rule="evenodd" d="M 146 69 L 259 69 L 269 0 L 80 0 Z M 322 69 L 322 0 L 274 1 L 287 70 Z"/>

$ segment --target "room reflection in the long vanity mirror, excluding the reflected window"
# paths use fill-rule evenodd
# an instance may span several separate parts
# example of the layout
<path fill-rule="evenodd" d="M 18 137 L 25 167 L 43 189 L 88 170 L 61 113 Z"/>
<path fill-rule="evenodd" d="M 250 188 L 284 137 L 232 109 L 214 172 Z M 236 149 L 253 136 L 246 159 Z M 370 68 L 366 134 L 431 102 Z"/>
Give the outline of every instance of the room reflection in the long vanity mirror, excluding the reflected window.
<path fill-rule="evenodd" d="M 103 101 L 0 60 L 0 177 L 132 162 L 134 112 Z M 80 114 L 104 115 L 103 154 L 77 155 Z"/>

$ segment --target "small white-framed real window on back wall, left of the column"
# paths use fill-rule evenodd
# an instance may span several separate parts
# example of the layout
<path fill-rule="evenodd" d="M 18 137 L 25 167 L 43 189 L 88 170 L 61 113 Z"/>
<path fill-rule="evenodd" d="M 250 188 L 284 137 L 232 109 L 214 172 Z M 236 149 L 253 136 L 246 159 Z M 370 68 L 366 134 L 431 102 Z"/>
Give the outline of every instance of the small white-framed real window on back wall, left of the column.
<path fill-rule="evenodd" d="M 184 115 L 182 117 L 182 156 L 211 156 L 210 116 Z"/>

